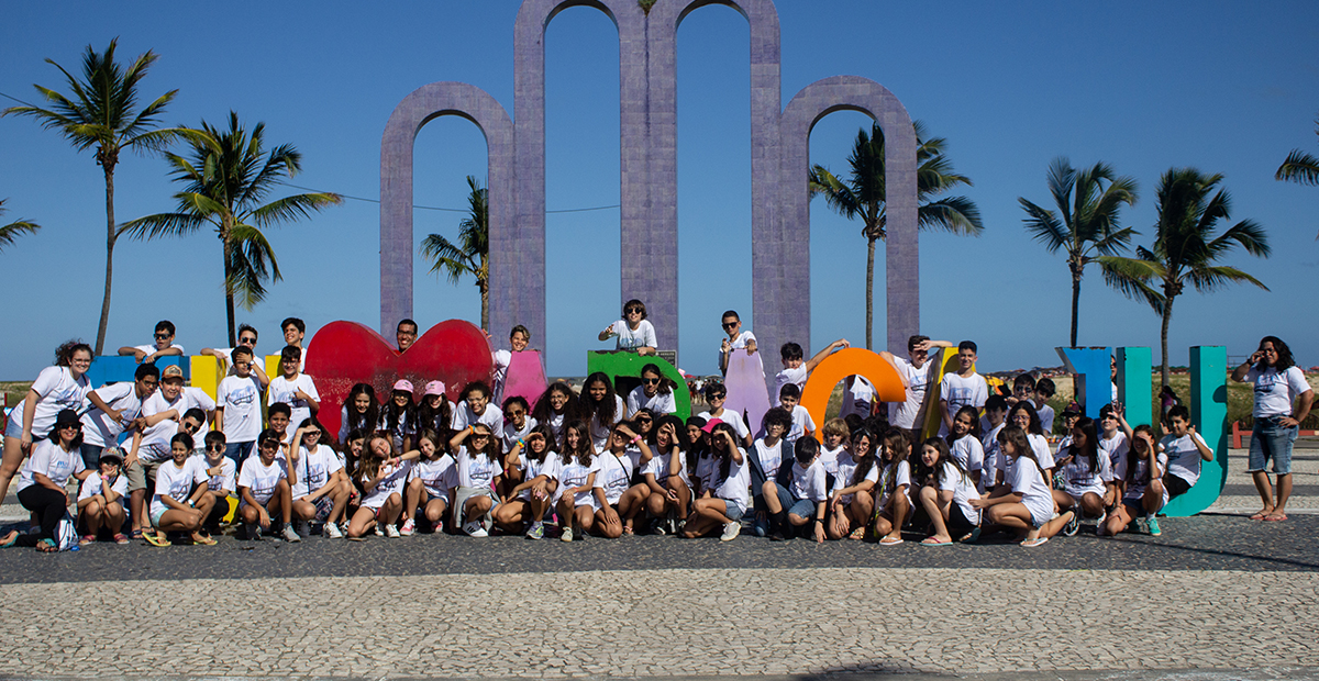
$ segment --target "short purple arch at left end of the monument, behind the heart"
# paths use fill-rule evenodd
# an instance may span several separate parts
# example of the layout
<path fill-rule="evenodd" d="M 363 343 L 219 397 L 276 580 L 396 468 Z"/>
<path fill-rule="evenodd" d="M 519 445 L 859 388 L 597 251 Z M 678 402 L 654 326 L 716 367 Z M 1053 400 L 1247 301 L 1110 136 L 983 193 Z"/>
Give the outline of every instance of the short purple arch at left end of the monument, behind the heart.
<path fill-rule="evenodd" d="M 422 86 L 394 107 L 380 140 L 380 333 L 386 339 L 393 339 L 398 320 L 413 316 L 413 144 L 421 128 L 439 116 L 467 119 L 485 136 L 491 271 L 496 263 L 508 270 L 504 261 L 512 250 L 516 205 L 513 121 L 479 87 L 452 82 Z M 492 291 L 492 312 L 496 306 Z"/>

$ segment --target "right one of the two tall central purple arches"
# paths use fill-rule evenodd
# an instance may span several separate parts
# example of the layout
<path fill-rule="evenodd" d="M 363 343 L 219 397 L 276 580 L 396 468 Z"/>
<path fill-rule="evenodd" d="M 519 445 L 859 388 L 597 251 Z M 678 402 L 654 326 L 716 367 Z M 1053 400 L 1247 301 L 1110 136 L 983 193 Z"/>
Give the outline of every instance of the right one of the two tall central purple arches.
<path fill-rule="evenodd" d="M 729 7 L 751 26 L 751 192 L 752 269 L 756 267 L 756 236 L 776 223 L 778 191 L 778 115 L 782 101 L 780 82 L 778 11 L 770 0 L 660 0 L 646 17 L 649 26 L 650 103 L 646 155 L 650 162 L 650 202 L 648 238 L 671 248 L 665 267 L 654 277 L 673 277 L 673 337 L 677 348 L 678 325 L 678 58 L 677 33 L 682 20 L 706 5 Z M 671 244 L 671 245 L 670 245 Z M 756 286 L 756 281 L 752 281 Z M 754 295 L 754 294 L 753 294 Z M 627 298 L 627 291 L 624 291 Z M 758 315 L 758 312 L 756 312 Z M 761 320 L 753 325 L 760 333 Z M 711 320 L 714 323 L 714 320 Z M 660 327 L 656 327 L 660 333 Z M 665 337 L 660 336 L 665 345 Z M 778 353 L 764 357 L 766 368 L 778 371 Z"/>

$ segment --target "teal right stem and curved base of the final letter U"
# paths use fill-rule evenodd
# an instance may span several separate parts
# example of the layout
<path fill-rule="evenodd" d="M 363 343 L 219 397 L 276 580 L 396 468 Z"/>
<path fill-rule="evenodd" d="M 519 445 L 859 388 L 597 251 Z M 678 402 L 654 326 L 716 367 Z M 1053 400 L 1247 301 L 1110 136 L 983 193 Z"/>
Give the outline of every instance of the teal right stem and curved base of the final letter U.
<path fill-rule="evenodd" d="M 1228 350 L 1221 345 L 1191 348 L 1191 425 L 1213 450 L 1213 461 L 1200 461 L 1200 479 L 1173 499 L 1163 512 L 1173 518 L 1195 515 L 1217 501 L 1228 479 Z"/>

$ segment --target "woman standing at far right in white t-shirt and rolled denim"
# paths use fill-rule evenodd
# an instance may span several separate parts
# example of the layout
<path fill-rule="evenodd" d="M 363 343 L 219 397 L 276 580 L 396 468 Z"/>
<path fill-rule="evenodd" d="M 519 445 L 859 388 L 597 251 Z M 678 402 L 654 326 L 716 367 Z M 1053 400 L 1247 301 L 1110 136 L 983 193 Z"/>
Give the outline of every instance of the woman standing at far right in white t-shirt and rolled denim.
<path fill-rule="evenodd" d="M 1241 366 L 1232 370 L 1239 383 L 1254 383 L 1254 429 L 1250 431 L 1250 465 L 1254 489 L 1264 501 L 1264 508 L 1252 520 L 1286 520 L 1287 498 L 1291 497 L 1291 445 L 1297 441 L 1301 422 L 1310 415 L 1314 389 L 1304 373 L 1291 358 L 1291 348 L 1277 336 L 1265 336 L 1260 349 Z M 1293 408 L 1295 407 L 1295 408 Z M 1278 476 L 1278 495 L 1274 498 L 1269 473 L 1264 465 L 1273 460 L 1273 473 Z"/>

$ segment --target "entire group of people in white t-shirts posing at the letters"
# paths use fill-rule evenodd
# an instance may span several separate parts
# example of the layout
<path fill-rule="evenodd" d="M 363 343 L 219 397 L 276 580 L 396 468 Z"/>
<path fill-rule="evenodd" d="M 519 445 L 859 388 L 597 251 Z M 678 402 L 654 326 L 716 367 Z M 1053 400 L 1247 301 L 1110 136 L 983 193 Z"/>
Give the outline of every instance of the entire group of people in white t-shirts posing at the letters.
<path fill-rule="evenodd" d="M 644 316 L 644 306 L 625 306 L 625 315 Z M 724 315 L 724 331 L 721 368 L 729 353 L 757 352 L 736 312 Z M 284 332 L 274 378 L 253 361 L 251 327 L 240 327 L 235 348 L 202 350 L 228 365 L 214 400 L 185 386 L 177 366 L 152 364 L 177 348 L 168 321 L 157 325 L 153 345 L 121 350 L 142 362 L 132 383 L 92 390 L 84 375 L 91 349 L 62 345 L 5 429 L 0 494 L 17 473 L 33 531 L 13 531 L 0 545 L 55 551 L 74 477 L 78 532 L 88 544 L 212 544 L 233 501 L 237 533 L 252 540 L 301 541 L 319 530 L 351 540 L 447 531 L 727 541 L 747 527 L 772 540 L 869 537 L 881 545 L 901 544 L 904 530 L 923 531 L 927 547 L 1008 532 L 1034 547 L 1075 533 L 1084 518 L 1101 536 L 1133 523 L 1158 535 L 1159 510 L 1213 458 L 1184 407 L 1169 411 L 1166 433 L 1157 437 L 1148 425 L 1130 427 L 1116 400 L 1097 420 L 1064 411 L 1054 452 L 1043 423 L 1051 410 L 1035 402 L 1051 394 L 1051 382 L 1024 375 L 1010 395 L 991 394 L 973 369 L 975 344 L 963 341 L 962 370 L 943 377 L 935 400 L 926 395 L 929 352 L 951 344 L 923 336 L 911 337 L 906 358 L 881 353 L 907 386 L 892 419 L 855 377 L 844 390 L 852 399 L 819 433 L 798 404 L 801 386 L 845 340 L 809 360 L 785 344 L 783 370 L 774 377 L 780 403 L 758 424 L 724 408 L 727 391 L 716 379 L 704 386 L 708 410 L 679 419 L 677 386 L 654 364 L 625 395 L 596 373 L 580 393 L 555 382 L 534 400 L 503 399 L 510 357 L 503 350 L 495 354 L 495 387 L 472 382 L 452 403 L 438 381 L 419 399 L 406 379 L 384 399 L 359 383 L 331 433 L 318 420 L 315 381 L 302 373 L 305 327 L 289 319 Z M 398 332 L 404 346 L 415 340 L 415 323 L 405 320 Z M 524 327 L 512 331 L 512 352 L 529 341 Z M 1290 440 L 1312 398 L 1297 375 L 1286 345 L 1273 337 L 1233 373 L 1256 383 L 1250 470 L 1268 485 L 1264 465 L 1272 458 L 1278 474 L 1278 499 L 1265 497 L 1261 519 L 1285 519 Z M 934 437 L 919 436 L 927 408 L 939 410 Z"/>

